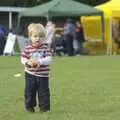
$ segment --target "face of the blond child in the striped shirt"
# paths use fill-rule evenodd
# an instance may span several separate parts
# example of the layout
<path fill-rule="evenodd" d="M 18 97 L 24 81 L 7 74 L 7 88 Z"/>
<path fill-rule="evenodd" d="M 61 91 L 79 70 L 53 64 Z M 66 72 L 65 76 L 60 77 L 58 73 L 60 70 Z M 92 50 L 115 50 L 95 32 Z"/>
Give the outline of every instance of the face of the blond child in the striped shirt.
<path fill-rule="evenodd" d="M 30 36 L 32 45 L 34 46 L 39 46 L 41 43 L 43 43 L 45 36 L 38 33 L 38 32 L 33 32 Z"/>

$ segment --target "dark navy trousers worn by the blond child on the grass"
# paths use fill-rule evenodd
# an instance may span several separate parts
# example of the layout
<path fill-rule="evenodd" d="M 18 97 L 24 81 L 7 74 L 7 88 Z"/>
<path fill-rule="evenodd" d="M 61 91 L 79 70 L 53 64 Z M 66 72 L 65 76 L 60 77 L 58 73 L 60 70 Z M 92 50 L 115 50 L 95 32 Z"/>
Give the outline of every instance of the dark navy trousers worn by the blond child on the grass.
<path fill-rule="evenodd" d="M 36 106 L 36 94 L 41 111 L 50 110 L 50 92 L 48 77 L 38 77 L 25 73 L 25 107 Z"/>

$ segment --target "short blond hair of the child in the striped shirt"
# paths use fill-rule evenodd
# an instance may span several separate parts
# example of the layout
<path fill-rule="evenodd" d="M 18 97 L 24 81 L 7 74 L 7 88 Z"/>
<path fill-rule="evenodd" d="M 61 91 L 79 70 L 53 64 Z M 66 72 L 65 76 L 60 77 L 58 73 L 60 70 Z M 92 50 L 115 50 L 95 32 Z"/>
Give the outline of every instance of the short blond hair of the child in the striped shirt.
<path fill-rule="evenodd" d="M 45 36 L 45 28 L 40 23 L 31 23 L 28 25 L 28 36 L 30 37 L 32 33 L 36 32 L 38 34 L 41 34 L 42 36 Z"/>

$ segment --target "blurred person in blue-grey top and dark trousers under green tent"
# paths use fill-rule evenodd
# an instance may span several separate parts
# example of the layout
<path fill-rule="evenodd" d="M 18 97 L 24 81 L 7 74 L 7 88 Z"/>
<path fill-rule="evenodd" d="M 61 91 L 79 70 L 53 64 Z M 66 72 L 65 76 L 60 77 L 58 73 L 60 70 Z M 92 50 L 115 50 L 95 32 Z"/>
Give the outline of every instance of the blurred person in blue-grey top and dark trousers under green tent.
<path fill-rule="evenodd" d="M 64 25 L 64 39 L 66 41 L 66 51 L 68 56 L 74 55 L 74 50 L 73 50 L 74 34 L 75 34 L 75 26 L 72 23 L 72 20 L 68 19 L 66 24 Z"/>

